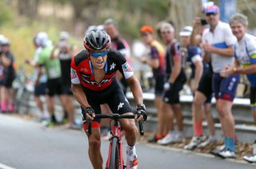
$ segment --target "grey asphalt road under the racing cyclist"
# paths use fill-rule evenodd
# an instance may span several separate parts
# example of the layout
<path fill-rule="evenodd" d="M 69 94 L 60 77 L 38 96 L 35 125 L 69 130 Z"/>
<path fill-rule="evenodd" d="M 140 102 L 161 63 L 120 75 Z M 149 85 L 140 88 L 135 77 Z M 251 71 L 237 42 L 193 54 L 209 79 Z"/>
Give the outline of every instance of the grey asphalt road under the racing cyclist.
<path fill-rule="evenodd" d="M 1 169 L 90 169 L 86 146 L 82 131 L 44 128 L 30 120 L 0 114 Z M 107 148 L 108 141 L 102 141 L 104 159 Z M 255 164 L 147 143 L 138 143 L 136 148 L 138 168 L 142 169 L 256 168 Z"/>

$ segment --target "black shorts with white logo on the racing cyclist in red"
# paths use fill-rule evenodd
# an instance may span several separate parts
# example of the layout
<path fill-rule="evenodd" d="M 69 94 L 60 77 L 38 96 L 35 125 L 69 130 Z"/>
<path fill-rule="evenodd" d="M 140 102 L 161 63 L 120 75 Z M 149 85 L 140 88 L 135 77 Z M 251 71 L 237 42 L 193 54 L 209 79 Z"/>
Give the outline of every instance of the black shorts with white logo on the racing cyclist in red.
<path fill-rule="evenodd" d="M 86 94 L 90 107 L 94 108 L 95 114 L 101 113 L 100 104 L 108 104 L 113 113 L 124 114 L 126 112 L 132 112 L 130 104 L 116 79 L 109 87 L 102 91 L 92 91 L 89 88 L 83 88 L 83 91 Z M 85 109 L 82 108 L 82 112 L 84 111 Z M 96 121 L 99 122 L 100 120 Z"/>

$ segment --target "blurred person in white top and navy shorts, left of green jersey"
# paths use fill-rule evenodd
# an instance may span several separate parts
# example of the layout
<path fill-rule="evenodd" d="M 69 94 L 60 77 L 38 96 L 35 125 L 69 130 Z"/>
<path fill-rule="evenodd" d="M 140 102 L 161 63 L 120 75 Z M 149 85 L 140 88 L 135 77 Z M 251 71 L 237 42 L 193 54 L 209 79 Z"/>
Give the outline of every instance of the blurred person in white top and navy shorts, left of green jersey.
<path fill-rule="evenodd" d="M 37 43 L 36 37 L 34 37 L 34 47 L 36 51 L 34 52 L 33 60 L 26 60 L 26 64 L 29 64 L 34 67 L 34 78 L 37 79 L 38 77 L 38 58 L 40 53 L 42 52 L 42 47 Z M 43 70 L 44 72 L 44 70 Z M 38 105 L 39 112 L 37 113 L 38 120 L 48 120 L 49 114 L 46 110 L 44 110 L 43 102 L 40 96 L 46 96 L 46 73 L 42 73 L 41 77 L 39 78 L 38 84 L 34 84 L 34 100 Z"/>

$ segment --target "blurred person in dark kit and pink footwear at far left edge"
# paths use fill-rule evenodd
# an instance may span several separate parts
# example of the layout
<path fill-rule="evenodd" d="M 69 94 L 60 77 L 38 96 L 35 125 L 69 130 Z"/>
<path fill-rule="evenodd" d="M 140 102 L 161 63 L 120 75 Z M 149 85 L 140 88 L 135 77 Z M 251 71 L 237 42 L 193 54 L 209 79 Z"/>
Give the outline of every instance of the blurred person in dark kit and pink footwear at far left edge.
<path fill-rule="evenodd" d="M 12 88 L 16 73 L 14 69 L 14 55 L 10 51 L 10 40 L 6 37 L 1 41 L 1 65 L 3 71 L 1 88 L 1 112 L 14 111 L 14 89 Z"/>

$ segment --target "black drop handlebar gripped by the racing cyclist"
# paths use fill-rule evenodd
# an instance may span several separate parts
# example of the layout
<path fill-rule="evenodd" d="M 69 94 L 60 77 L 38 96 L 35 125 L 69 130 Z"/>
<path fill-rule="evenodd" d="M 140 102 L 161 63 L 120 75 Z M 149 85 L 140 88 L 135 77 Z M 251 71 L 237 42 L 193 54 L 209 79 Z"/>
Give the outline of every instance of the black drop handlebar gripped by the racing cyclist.
<path fill-rule="evenodd" d="M 120 119 L 134 119 L 135 115 L 119 115 L 117 113 L 111 114 L 111 115 L 102 115 L 102 114 L 96 114 L 94 119 L 112 119 L 112 120 L 120 120 Z M 144 128 L 142 121 L 138 121 L 138 127 L 139 132 L 141 136 L 144 135 Z M 88 134 L 91 134 L 91 122 L 90 120 L 86 120 L 86 132 Z"/>

